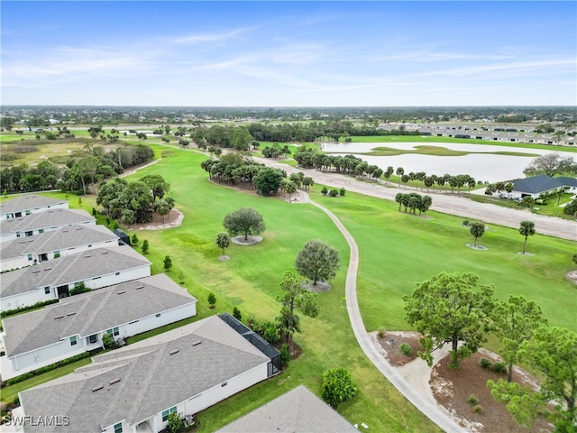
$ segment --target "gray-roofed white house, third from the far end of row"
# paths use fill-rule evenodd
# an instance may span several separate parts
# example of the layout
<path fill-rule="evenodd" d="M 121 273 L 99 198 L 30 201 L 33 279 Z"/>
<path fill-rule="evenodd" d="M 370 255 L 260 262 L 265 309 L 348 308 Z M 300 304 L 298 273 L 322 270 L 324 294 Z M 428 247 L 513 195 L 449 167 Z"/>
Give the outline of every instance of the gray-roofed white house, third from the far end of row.
<path fill-rule="evenodd" d="M 66 226 L 0 244 L 0 271 L 23 268 L 90 248 L 118 244 L 105 226 Z"/>

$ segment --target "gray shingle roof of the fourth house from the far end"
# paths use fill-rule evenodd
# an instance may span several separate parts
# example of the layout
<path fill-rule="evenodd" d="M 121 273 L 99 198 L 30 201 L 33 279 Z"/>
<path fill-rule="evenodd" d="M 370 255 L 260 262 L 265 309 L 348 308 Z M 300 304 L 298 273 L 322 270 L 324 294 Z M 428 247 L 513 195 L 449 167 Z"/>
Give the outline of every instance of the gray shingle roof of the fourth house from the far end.
<path fill-rule="evenodd" d="M 130 246 L 95 248 L 3 273 L 0 276 L 0 297 L 5 298 L 46 286 L 58 287 L 146 264 L 151 262 Z"/>

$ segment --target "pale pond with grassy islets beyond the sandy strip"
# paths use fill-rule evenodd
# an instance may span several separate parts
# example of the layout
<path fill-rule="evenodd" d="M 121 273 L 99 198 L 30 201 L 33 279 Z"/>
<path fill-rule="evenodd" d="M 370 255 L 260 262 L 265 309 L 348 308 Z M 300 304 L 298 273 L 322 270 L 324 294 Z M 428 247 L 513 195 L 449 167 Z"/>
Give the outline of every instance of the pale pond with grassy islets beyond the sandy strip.
<path fill-rule="evenodd" d="M 413 150 L 416 146 L 432 145 L 445 147 L 453 151 L 465 152 L 483 152 L 472 153 L 463 156 L 435 156 L 421 155 L 417 153 L 405 153 L 395 156 L 371 156 L 355 155 L 362 160 L 376 165 L 382 170 L 387 170 L 392 165 L 395 170 L 397 167 L 405 169 L 405 173 L 410 171 L 425 171 L 427 174 L 442 176 L 448 173 L 452 176 L 457 174 L 468 174 L 475 180 L 490 183 L 506 180 L 525 178 L 523 170 L 535 159 L 527 156 L 495 155 L 489 152 L 527 152 L 543 155 L 553 153 L 541 149 L 523 149 L 518 147 L 494 146 L 484 144 L 467 144 L 467 143 L 323 143 L 324 152 L 353 153 L 354 152 L 371 152 L 376 147 L 391 147 L 400 150 Z"/>

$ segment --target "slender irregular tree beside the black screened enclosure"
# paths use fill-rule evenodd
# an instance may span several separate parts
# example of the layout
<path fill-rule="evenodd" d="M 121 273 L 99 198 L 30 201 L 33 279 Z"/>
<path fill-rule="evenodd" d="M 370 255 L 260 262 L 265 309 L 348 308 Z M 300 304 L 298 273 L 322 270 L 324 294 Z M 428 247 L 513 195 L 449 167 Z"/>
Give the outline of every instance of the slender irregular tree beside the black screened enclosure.
<path fill-rule="evenodd" d="M 305 289 L 300 277 L 294 272 L 284 273 L 280 281 L 280 289 L 282 290 L 282 295 L 279 297 L 281 308 L 277 323 L 282 339 L 289 342 L 295 332 L 300 332 L 300 320 L 295 309 L 300 309 L 305 316 L 316 318 L 320 307 L 316 302 L 316 294 Z"/>

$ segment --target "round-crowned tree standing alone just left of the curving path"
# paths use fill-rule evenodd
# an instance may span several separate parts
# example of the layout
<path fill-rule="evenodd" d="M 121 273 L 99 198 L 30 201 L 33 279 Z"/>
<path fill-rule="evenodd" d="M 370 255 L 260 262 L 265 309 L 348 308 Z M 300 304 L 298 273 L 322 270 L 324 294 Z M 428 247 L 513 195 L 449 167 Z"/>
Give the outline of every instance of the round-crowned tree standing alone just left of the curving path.
<path fill-rule="evenodd" d="M 313 281 L 330 281 L 340 267 L 339 253 L 320 240 L 307 242 L 295 261 L 297 272 Z"/>

